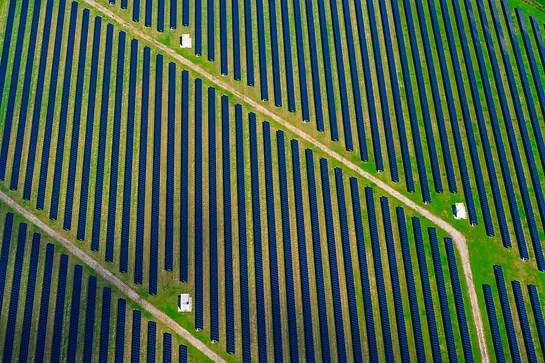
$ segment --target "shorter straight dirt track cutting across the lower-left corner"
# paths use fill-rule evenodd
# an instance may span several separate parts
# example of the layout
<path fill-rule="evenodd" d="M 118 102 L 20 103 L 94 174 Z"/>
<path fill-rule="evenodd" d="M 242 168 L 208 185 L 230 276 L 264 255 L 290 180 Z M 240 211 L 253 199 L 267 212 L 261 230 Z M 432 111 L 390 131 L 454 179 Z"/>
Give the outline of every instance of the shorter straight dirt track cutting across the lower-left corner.
<path fill-rule="evenodd" d="M 204 353 L 208 358 L 214 362 L 225 362 L 216 352 L 208 348 L 203 342 L 195 338 L 189 331 L 182 328 L 180 324 L 170 318 L 168 315 L 163 313 L 161 310 L 157 309 L 155 305 L 151 304 L 149 301 L 140 296 L 136 291 L 134 291 L 129 285 L 117 278 L 113 273 L 110 272 L 106 267 L 100 264 L 93 257 L 89 256 L 83 250 L 81 250 L 77 245 L 66 239 L 62 234 L 55 231 L 53 228 L 48 226 L 40 218 L 36 217 L 32 212 L 25 209 L 19 203 L 11 199 L 4 192 L 0 191 L 0 202 L 5 203 L 9 207 L 13 208 L 17 213 L 25 217 L 29 222 L 40 228 L 44 233 L 48 234 L 50 237 L 54 238 L 59 242 L 64 248 L 66 248 L 70 253 L 79 258 L 93 270 L 95 270 L 100 276 L 108 280 L 113 286 L 119 289 L 122 293 L 127 295 L 127 297 L 133 300 L 135 303 L 140 305 L 144 310 L 153 315 L 155 319 L 165 324 L 169 329 L 172 329 L 176 334 L 184 338 L 189 344 L 193 345 L 195 348 Z"/>

